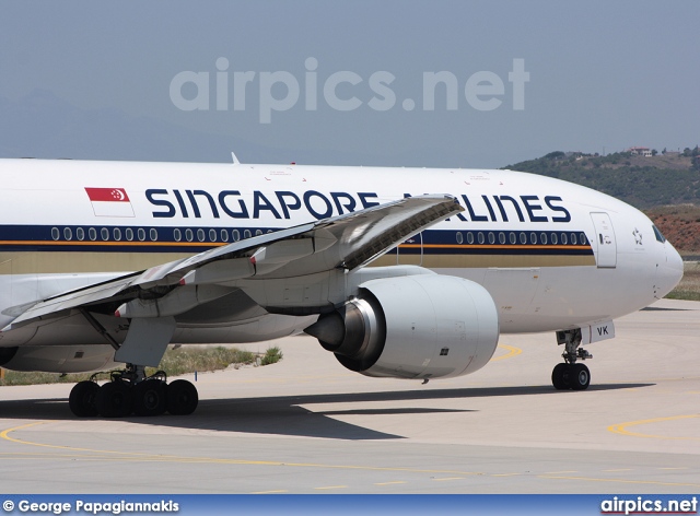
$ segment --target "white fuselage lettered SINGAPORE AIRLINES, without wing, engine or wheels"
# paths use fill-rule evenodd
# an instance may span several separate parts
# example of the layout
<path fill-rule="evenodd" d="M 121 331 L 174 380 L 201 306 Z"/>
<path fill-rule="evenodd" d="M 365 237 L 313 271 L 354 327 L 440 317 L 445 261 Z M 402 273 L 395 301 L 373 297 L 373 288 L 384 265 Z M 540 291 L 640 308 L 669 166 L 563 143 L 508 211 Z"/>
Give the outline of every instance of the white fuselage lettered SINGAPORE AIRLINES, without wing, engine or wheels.
<path fill-rule="evenodd" d="M 663 297 L 682 273 L 640 211 L 512 171 L 0 160 L 0 180 L 2 327 L 26 304 L 126 271 L 423 194 L 453 195 L 466 210 L 373 265 L 482 284 L 502 332 L 610 320 Z M 174 341 L 265 340 L 307 322 L 255 310 L 190 318 Z"/>

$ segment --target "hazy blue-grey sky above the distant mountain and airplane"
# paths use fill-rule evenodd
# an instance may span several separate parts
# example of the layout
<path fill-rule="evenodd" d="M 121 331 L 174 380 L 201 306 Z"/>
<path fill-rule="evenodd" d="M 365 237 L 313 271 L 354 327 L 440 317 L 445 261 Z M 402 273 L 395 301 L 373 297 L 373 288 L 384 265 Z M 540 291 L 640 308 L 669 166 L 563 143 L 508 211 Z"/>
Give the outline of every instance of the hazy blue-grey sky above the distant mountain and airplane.
<path fill-rule="evenodd" d="M 0 97 L 47 91 L 299 161 L 675 149 L 700 143 L 699 24 L 697 0 L 4 1 Z M 447 79 L 431 94 L 424 78 Z"/>

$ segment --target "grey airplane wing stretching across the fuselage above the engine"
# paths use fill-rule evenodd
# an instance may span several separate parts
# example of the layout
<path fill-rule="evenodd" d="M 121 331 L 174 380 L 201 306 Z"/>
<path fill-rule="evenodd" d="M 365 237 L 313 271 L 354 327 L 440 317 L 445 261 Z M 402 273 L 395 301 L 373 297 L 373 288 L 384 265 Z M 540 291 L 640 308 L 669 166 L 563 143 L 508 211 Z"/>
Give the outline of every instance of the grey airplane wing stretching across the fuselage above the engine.
<path fill-rule="evenodd" d="M 463 208 L 452 196 L 411 197 L 246 238 L 43 300 L 22 307 L 23 312 L 15 307 L 18 317 L 2 331 L 60 317 L 73 309 L 107 314 L 116 307 L 130 306 L 132 313 L 140 309 L 141 316 L 168 316 L 172 314 L 166 313 L 166 304 L 159 306 L 153 300 L 167 298 L 182 309 L 230 292 L 222 285 L 231 286 L 236 280 L 265 281 L 332 269 L 354 270 L 460 211 Z M 188 285 L 199 289 L 183 289 Z M 121 316 L 130 317 L 128 310 L 122 309 Z M 148 314 L 149 309 L 155 312 Z"/>

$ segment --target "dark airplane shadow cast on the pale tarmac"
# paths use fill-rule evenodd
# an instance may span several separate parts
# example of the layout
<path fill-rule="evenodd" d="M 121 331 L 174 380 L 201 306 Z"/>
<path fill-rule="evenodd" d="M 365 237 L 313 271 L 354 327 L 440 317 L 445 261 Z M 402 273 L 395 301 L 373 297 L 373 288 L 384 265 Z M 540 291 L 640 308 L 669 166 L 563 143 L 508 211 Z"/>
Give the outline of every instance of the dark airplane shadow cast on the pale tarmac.
<path fill-rule="evenodd" d="M 654 384 L 603 384 L 588 391 L 606 391 L 651 387 Z M 1 395 L 0 389 L 0 395 Z M 405 390 L 378 392 L 348 392 L 329 395 L 279 396 L 265 398 L 228 398 L 201 400 L 191 415 L 162 415 L 155 418 L 126 418 L 132 423 L 172 426 L 190 430 L 214 430 L 280 436 L 323 437 L 332 439 L 365 441 L 396 439 L 401 435 L 378 432 L 335 418 L 342 415 L 396 415 L 432 413 L 469 413 L 468 409 L 421 407 L 421 401 L 451 398 L 479 399 L 503 396 L 576 396 L 578 392 L 558 391 L 551 386 L 485 387 L 435 390 Z M 348 408 L 314 411 L 308 406 L 320 403 L 358 403 L 410 401 L 411 407 Z M 65 398 L 39 400 L 0 401 L 0 418 L 28 420 L 75 420 Z"/>

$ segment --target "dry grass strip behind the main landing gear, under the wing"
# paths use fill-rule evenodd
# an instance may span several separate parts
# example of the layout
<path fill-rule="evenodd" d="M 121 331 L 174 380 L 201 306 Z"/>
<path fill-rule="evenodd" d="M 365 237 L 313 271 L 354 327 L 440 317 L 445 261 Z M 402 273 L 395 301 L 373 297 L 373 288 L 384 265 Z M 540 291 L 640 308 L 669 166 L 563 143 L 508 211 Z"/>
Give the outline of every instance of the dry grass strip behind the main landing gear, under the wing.
<path fill-rule="evenodd" d="M 267 365 L 265 356 L 273 350 L 279 352 L 278 348 L 270 348 L 265 355 L 261 356 L 260 365 Z M 186 347 L 170 349 L 163 355 L 163 360 L 158 368 L 147 367 L 147 374 L 153 374 L 155 371 L 165 371 L 170 376 L 178 376 L 187 373 L 206 372 L 225 370 L 229 366 L 240 367 L 243 365 L 256 364 L 258 355 L 250 351 L 243 351 L 232 347 L 200 348 Z M 279 353 L 281 359 L 281 353 Z M 75 384 L 83 379 L 89 379 L 91 374 L 71 374 L 60 375 L 58 373 L 40 373 L 40 372 L 19 372 L 5 371 L 4 378 L 0 379 L 0 386 L 3 385 L 35 385 L 35 384 Z M 104 375 L 105 379 L 107 375 Z"/>

